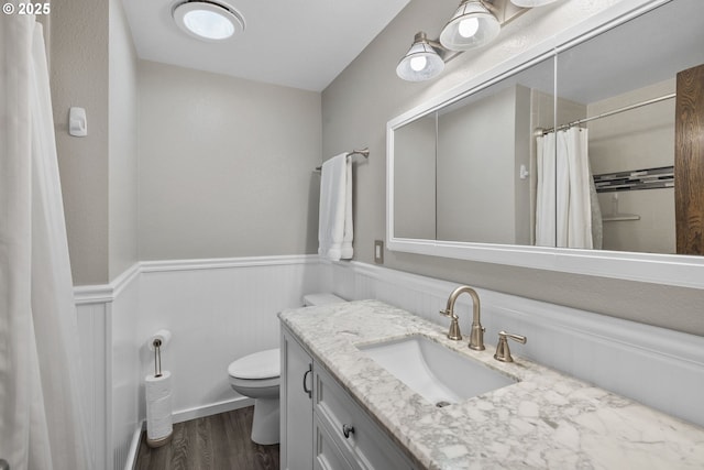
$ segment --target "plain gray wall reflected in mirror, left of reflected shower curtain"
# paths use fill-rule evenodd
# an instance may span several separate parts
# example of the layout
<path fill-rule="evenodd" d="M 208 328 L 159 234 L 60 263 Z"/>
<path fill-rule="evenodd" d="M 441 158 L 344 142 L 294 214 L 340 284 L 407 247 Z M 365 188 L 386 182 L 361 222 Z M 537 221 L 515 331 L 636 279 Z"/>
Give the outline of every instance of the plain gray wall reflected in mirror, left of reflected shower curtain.
<path fill-rule="evenodd" d="M 506 88 L 439 117 L 438 239 L 527 242 L 530 227 L 516 223 L 518 193 L 524 190 L 522 199 L 528 199 L 529 189 L 528 182 L 520 185 L 516 177 L 517 121 L 530 117 L 529 106 L 519 112 L 521 95 L 529 90 Z M 528 151 L 527 145 L 524 149 Z"/>

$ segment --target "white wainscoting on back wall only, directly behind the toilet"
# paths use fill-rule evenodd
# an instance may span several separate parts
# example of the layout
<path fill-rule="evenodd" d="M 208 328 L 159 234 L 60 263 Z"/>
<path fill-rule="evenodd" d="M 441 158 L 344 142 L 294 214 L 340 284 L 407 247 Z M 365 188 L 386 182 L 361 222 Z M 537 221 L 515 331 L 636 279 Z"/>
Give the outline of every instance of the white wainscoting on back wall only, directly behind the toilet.
<path fill-rule="evenodd" d="M 170 330 L 162 367 L 173 375 L 176 422 L 251 403 L 238 403 L 243 398 L 230 387 L 228 365 L 278 347 L 276 315 L 301 306 L 304 294 L 316 292 L 319 267 L 318 256 L 141 263 L 141 372 L 154 373 L 147 338 Z"/>

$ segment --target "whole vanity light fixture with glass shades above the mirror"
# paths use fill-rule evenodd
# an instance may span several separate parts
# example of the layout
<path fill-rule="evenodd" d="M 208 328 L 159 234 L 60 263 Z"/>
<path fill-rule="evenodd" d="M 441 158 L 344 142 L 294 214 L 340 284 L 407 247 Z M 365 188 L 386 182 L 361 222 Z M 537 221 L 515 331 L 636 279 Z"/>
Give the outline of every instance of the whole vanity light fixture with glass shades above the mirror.
<path fill-rule="evenodd" d="M 554 1 L 558 0 L 461 0 L 438 40 L 429 40 L 422 32 L 416 34 L 414 45 L 399 62 L 396 74 L 408 81 L 435 78 L 447 62 L 496 39 L 504 24 L 530 8 Z"/>

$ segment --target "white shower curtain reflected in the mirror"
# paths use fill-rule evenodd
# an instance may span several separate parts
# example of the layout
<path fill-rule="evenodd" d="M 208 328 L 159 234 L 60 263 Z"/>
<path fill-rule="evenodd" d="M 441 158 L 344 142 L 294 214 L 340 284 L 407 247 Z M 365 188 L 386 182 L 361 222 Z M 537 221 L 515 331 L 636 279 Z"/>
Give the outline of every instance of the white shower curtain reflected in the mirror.
<path fill-rule="evenodd" d="M 538 136 L 536 245 L 602 248 L 602 215 L 588 162 L 587 130 Z"/>

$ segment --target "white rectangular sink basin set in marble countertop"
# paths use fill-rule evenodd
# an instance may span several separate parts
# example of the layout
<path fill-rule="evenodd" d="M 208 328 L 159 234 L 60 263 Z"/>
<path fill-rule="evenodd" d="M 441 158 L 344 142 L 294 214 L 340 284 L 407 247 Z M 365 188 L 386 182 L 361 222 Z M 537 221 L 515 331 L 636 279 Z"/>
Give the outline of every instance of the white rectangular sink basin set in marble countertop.
<path fill-rule="evenodd" d="M 422 336 L 358 348 L 437 406 L 517 382 Z"/>

